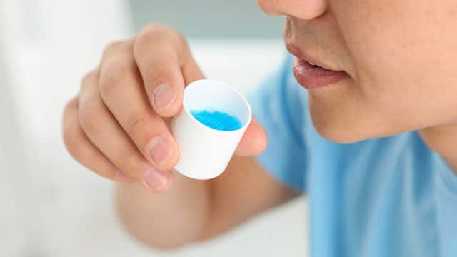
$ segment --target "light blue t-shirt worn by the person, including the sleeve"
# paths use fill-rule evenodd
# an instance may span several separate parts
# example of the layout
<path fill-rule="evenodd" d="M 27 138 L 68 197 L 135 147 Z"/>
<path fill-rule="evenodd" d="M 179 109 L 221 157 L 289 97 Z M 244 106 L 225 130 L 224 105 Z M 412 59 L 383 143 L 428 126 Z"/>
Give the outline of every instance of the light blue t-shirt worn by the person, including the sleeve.
<path fill-rule="evenodd" d="M 310 199 L 311 256 L 457 256 L 457 176 L 417 132 L 322 138 L 291 56 L 251 96 L 268 133 L 258 162 Z"/>

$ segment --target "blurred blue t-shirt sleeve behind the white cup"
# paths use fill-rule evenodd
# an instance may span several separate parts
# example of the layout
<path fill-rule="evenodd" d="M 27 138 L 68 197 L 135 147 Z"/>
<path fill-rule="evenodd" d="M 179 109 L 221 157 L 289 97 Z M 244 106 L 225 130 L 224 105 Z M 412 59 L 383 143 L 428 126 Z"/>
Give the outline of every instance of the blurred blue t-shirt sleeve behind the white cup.
<path fill-rule="evenodd" d="M 268 146 L 256 159 L 286 186 L 306 190 L 307 92 L 291 74 L 291 57 L 249 95 L 253 115 L 268 134 Z"/>

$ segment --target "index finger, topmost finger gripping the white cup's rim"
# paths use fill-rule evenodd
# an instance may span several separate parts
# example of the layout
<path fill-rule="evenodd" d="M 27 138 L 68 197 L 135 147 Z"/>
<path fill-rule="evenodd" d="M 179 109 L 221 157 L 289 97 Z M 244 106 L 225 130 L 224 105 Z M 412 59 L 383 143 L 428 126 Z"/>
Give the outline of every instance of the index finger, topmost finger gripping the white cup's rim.
<path fill-rule="evenodd" d="M 146 26 L 139 33 L 134 58 L 149 101 L 163 117 L 181 109 L 185 84 L 203 78 L 184 38 L 161 24 Z"/>

